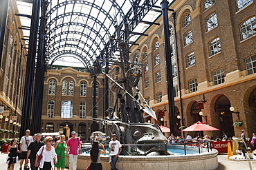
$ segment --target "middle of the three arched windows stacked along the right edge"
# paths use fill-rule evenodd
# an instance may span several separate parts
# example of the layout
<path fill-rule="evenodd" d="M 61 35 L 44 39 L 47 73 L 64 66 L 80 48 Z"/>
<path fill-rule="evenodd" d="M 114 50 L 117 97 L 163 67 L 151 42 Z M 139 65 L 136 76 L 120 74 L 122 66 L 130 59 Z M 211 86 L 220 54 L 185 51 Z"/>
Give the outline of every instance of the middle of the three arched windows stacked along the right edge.
<path fill-rule="evenodd" d="M 241 39 L 248 39 L 256 34 L 256 17 L 252 17 L 240 25 Z"/>

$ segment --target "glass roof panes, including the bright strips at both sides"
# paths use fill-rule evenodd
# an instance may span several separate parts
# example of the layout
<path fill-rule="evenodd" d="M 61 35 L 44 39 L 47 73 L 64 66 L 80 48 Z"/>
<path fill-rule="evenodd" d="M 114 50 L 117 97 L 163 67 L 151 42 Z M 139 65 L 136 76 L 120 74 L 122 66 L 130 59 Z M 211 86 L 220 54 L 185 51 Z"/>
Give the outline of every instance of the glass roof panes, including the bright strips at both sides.
<path fill-rule="evenodd" d="M 162 0 L 150 0 L 151 5 L 161 7 Z M 97 59 L 104 59 L 109 39 L 116 34 L 115 25 L 124 29 L 123 21 L 129 23 L 141 12 L 149 0 L 48 0 L 46 4 L 46 63 L 56 64 L 64 57 L 73 57 L 90 67 Z M 152 6 L 153 6 L 152 5 Z M 20 14 L 31 14 L 32 4 L 17 1 Z M 159 9 L 158 9 L 159 10 Z M 161 9 L 160 9 L 161 10 Z M 161 12 L 145 12 L 143 21 L 154 21 Z M 30 27 L 30 19 L 20 17 L 21 25 Z M 133 32 L 143 32 L 150 25 L 138 23 Z M 23 30 L 29 36 L 28 30 Z M 128 41 L 136 41 L 131 36 Z M 105 51 L 105 52 L 104 52 Z M 111 55 L 111 54 L 110 54 Z M 70 63 L 72 66 L 72 62 Z M 77 64 L 77 63 L 76 63 Z"/>

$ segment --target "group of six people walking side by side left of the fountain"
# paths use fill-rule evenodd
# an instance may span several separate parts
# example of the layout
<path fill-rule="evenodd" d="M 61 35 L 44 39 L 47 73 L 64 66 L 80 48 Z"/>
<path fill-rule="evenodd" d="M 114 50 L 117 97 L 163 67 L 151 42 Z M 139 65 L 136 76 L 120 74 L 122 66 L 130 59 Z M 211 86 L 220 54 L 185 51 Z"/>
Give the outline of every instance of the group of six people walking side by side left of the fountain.
<path fill-rule="evenodd" d="M 71 138 L 67 142 L 64 135 L 53 140 L 51 136 L 42 138 L 41 134 L 35 134 L 34 139 L 27 129 L 26 135 L 21 137 L 19 146 L 17 140 L 11 140 L 8 146 L 7 169 L 13 170 L 19 158 L 19 170 L 64 170 L 66 156 L 69 156 L 69 169 L 77 169 L 77 155 L 82 153 L 82 149 L 80 138 L 75 136 L 75 131 L 71 132 Z"/>

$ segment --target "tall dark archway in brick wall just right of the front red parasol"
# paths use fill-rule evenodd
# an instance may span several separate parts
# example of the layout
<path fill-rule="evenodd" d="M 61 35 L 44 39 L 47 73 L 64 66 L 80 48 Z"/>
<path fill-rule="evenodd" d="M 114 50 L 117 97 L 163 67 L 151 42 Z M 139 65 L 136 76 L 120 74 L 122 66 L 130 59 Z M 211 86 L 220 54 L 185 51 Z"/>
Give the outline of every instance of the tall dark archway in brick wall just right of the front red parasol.
<path fill-rule="evenodd" d="M 225 96 L 221 95 L 217 98 L 215 103 L 215 112 L 219 114 L 219 128 L 221 134 L 225 132 L 228 136 L 235 136 L 232 112 L 230 111 L 230 100 Z"/>

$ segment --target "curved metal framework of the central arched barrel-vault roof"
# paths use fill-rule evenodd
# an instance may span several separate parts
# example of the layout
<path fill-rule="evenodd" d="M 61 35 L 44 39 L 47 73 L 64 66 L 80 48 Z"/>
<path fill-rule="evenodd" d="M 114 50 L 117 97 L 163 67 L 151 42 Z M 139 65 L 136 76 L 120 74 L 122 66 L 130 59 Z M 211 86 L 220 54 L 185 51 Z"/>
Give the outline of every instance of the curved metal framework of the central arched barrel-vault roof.
<path fill-rule="evenodd" d="M 69 53 L 90 69 L 95 61 L 116 52 L 118 42 L 129 42 L 129 35 L 156 1 L 48 0 L 45 62 L 53 64 Z"/>

